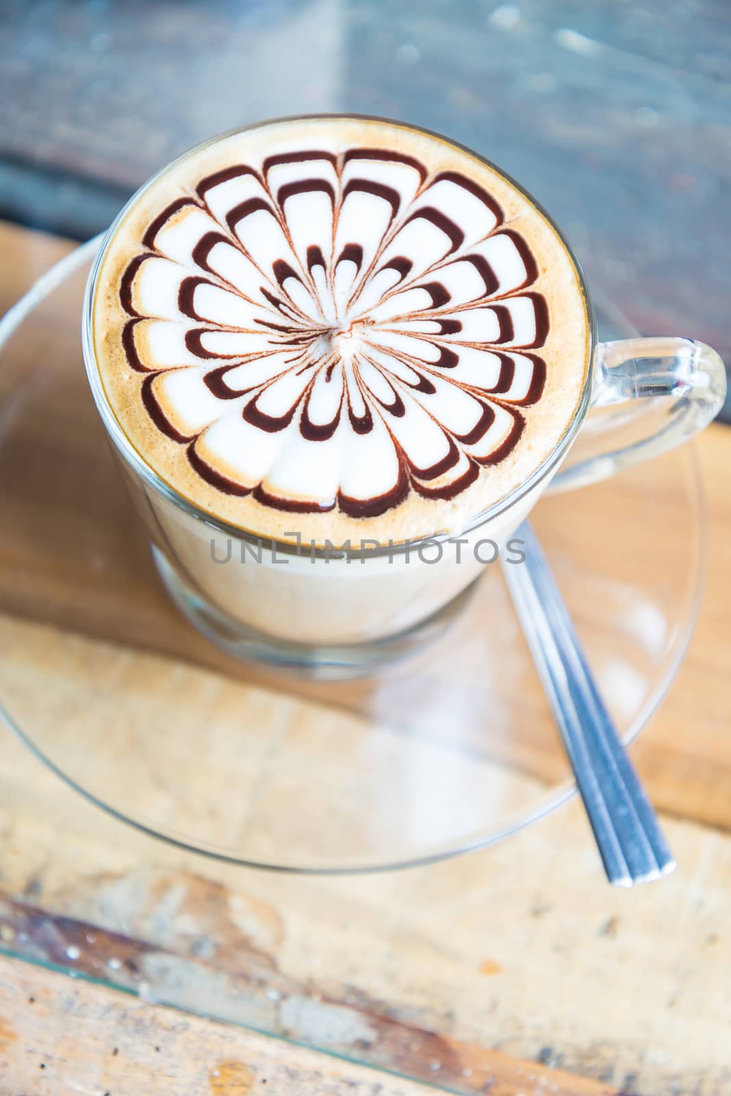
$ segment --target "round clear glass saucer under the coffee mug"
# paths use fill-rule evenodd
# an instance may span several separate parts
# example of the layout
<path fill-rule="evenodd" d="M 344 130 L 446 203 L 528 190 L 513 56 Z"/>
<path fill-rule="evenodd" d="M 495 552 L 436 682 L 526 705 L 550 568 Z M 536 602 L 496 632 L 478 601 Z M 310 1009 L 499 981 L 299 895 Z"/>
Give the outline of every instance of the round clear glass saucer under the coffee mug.
<path fill-rule="evenodd" d="M 72 787 L 151 834 L 282 871 L 421 864 L 575 788 L 497 566 L 418 654 L 308 683 L 222 654 L 156 576 L 84 376 L 94 243 L 0 323 L 0 705 Z M 601 338 L 631 334 L 596 300 Z M 534 524 L 626 741 L 695 624 L 706 517 L 691 446 L 543 500 Z"/>

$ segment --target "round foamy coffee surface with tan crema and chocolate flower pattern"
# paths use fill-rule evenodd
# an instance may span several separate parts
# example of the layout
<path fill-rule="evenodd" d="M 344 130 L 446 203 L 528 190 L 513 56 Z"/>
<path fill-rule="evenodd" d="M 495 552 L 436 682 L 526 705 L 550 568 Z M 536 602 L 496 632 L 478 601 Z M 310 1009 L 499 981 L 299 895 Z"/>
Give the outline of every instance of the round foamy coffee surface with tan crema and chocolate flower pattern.
<path fill-rule="evenodd" d="M 278 539 L 466 527 L 538 468 L 584 386 L 555 229 L 449 141 L 321 116 L 194 150 L 132 201 L 93 302 L 140 456 Z"/>

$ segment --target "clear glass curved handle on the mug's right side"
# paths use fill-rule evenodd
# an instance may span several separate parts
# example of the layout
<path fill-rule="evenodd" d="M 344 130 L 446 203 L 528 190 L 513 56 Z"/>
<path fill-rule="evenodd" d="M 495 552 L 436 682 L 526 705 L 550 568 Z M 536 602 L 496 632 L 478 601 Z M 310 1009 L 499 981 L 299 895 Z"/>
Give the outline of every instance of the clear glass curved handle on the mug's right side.
<path fill-rule="evenodd" d="M 724 397 L 723 362 L 705 343 L 599 343 L 589 412 L 548 490 L 594 483 L 674 448 L 716 418 Z"/>

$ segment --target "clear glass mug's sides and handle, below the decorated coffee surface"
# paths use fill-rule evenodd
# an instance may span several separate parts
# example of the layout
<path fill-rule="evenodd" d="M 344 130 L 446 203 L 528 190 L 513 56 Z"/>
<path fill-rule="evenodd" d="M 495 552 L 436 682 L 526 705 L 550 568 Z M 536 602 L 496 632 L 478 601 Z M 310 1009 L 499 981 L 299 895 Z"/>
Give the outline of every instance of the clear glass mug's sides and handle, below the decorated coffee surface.
<path fill-rule="evenodd" d="M 162 581 L 185 616 L 230 653 L 316 676 L 376 669 L 450 621 L 498 553 L 508 563 L 522 558 L 512 535 L 544 491 L 592 483 L 657 456 L 703 430 L 723 403 L 723 363 L 703 343 L 599 343 L 577 264 L 589 310 L 590 366 L 568 429 L 530 478 L 466 528 L 419 541 L 311 548 L 297 543 L 294 522 L 287 541 L 251 535 L 197 507 L 156 475 L 121 430 L 100 378 L 92 333 L 100 269 L 118 225 L 146 190 L 112 226 L 92 267 L 84 362 Z"/>

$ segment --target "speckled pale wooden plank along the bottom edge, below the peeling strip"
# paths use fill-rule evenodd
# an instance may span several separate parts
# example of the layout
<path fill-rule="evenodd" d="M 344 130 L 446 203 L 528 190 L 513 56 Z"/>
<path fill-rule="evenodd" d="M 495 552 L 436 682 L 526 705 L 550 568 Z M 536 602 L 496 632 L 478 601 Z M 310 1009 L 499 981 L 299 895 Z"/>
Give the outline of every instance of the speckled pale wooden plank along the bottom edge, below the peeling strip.
<path fill-rule="evenodd" d="M 433 1092 L 431 1086 L 254 1031 L 183 1017 L 106 986 L 71 983 L 57 971 L 1 956 L 0 1017 L 0 1091 L 8 1093 L 427 1096 Z M 438 1053 L 445 1050 L 444 1044 L 436 1047 Z M 552 1096 L 617 1096 L 613 1086 L 500 1053 L 485 1054 L 474 1075 L 480 1085 L 475 1091 L 491 1096 L 515 1096 L 521 1085 Z"/>

